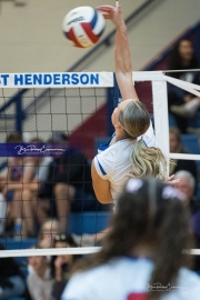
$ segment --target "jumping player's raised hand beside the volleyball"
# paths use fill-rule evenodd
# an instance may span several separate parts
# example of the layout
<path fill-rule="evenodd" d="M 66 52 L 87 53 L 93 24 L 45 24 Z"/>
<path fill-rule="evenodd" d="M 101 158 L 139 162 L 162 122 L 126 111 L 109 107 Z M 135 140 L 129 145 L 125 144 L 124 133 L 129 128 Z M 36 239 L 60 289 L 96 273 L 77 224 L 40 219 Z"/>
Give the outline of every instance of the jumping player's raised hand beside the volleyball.
<path fill-rule="evenodd" d="M 101 11 L 104 19 L 111 20 L 117 28 L 120 28 L 123 24 L 120 7 L 100 6 L 96 9 Z"/>

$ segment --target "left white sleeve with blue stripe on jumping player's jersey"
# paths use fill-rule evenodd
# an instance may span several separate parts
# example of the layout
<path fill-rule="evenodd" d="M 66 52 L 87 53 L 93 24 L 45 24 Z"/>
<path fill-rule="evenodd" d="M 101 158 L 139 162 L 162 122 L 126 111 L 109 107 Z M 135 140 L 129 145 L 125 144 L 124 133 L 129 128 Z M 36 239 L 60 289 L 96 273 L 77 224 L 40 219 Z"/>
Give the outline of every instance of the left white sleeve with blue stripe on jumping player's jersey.
<path fill-rule="evenodd" d="M 109 180 L 110 174 L 113 170 L 113 159 L 114 159 L 114 149 L 108 148 L 101 153 L 94 157 L 94 167 L 98 174 L 104 179 Z"/>

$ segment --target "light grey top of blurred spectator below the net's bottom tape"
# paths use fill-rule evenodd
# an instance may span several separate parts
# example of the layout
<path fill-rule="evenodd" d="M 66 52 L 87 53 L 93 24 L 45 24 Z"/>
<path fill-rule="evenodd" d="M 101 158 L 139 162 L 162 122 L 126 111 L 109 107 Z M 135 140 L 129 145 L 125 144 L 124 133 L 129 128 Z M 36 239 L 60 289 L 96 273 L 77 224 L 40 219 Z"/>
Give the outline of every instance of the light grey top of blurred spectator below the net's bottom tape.
<path fill-rule="evenodd" d="M 28 294 L 26 299 L 48 300 L 50 299 L 53 279 L 50 274 L 49 260 L 47 257 L 28 258 L 27 287 Z"/>

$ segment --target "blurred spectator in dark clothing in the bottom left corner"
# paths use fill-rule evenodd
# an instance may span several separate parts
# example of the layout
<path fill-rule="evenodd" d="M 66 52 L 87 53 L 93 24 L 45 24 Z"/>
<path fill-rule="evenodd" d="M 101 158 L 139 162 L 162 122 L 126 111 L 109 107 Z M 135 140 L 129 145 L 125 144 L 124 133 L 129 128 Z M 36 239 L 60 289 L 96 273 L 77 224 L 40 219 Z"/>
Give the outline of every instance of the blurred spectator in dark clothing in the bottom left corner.
<path fill-rule="evenodd" d="M 0 250 L 6 250 L 0 243 Z M 0 258 L 0 299 L 23 296 L 26 282 L 13 258 Z"/>

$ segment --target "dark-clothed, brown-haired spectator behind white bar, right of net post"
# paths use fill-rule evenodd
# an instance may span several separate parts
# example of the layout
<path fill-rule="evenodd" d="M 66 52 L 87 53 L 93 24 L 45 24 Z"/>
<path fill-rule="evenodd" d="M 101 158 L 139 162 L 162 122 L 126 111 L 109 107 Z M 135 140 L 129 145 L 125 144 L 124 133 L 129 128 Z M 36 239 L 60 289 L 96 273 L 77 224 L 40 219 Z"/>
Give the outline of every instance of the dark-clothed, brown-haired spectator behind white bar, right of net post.
<path fill-rule="evenodd" d="M 186 149 L 183 148 L 183 144 L 181 142 L 181 133 L 178 128 L 171 127 L 169 129 L 169 139 L 170 139 L 170 152 L 171 153 L 187 153 Z M 197 170 L 197 163 L 193 160 L 182 160 L 177 159 L 172 160 L 172 163 L 170 163 L 170 176 L 174 174 L 179 170 L 187 170 L 189 171 L 194 180 L 196 180 L 196 187 L 198 181 L 198 170 Z"/>

